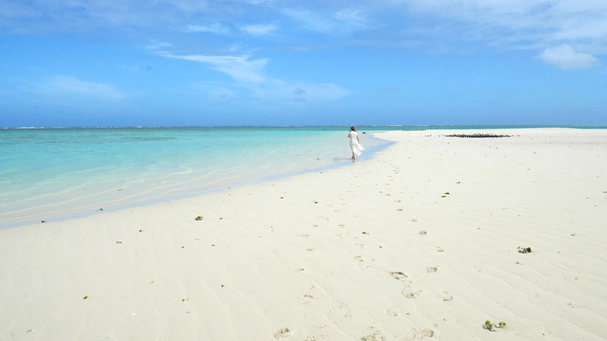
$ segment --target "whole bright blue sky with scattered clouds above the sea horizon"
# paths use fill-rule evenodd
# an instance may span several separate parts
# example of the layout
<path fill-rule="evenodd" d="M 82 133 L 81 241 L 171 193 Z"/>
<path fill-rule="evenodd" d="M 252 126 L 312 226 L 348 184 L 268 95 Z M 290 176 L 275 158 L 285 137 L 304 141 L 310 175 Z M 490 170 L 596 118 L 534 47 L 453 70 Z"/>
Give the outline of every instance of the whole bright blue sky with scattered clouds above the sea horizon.
<path fill-rule="evenodd" d="M 0 0 L 0 126 L 607 124 L 599 0 Z"/>

